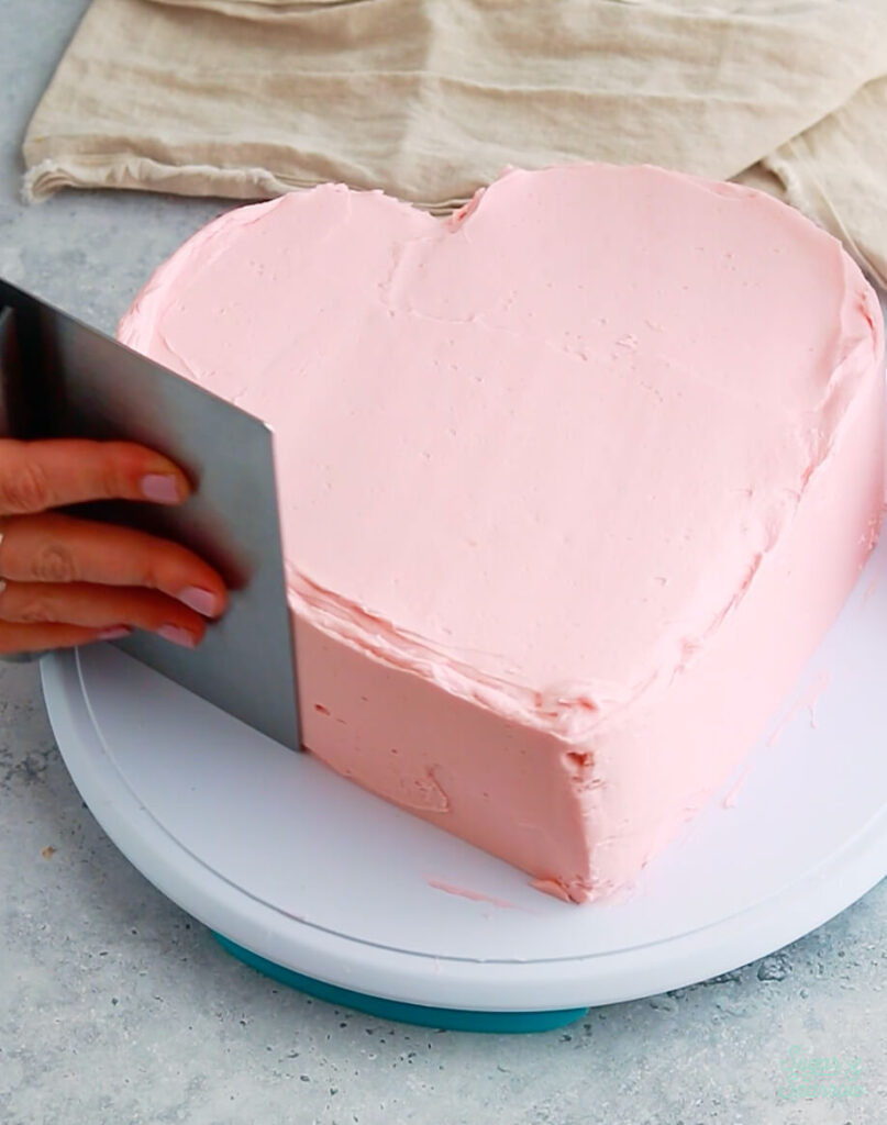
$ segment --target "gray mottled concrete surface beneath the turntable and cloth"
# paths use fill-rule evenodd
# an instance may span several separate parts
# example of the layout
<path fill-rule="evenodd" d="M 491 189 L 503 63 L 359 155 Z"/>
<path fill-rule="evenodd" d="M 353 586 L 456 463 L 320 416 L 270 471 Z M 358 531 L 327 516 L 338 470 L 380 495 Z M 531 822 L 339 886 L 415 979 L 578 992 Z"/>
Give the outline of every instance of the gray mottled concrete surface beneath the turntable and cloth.
<path fill-rule="evenodd" d="M 222 205 L 111 192 L 19 202 L 21 135 L 84 7 L 0 0 L 0 273 L 110 330 Z M 6 1125 L 887 1120 L 887 882 L 779 954 L 563 1032 L 391 1025 L 261 978 L 163 899 L 73 789 L 36 669 L 6 666 L 0 889 Z M 787 1087 L 796 1062 L 817 1059 L 852 1070 L 853 1097 Z"/>

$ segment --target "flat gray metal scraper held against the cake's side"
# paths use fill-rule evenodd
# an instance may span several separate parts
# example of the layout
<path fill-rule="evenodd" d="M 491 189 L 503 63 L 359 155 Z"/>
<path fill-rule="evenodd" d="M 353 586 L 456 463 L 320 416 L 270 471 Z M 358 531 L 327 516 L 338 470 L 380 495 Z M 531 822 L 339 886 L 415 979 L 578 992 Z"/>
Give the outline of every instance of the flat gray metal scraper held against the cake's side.
<path fill-rule="evenodd" d="M 259 418 L 0 279 L 0 434 L 135 441 L 176 461 L 195 493 L 179 507 L 74 510 L 177 540 L 232 591 L 201 645 L 147 632 L 129 656 L 294 749 L 299 746 L 274 438 Z"/>

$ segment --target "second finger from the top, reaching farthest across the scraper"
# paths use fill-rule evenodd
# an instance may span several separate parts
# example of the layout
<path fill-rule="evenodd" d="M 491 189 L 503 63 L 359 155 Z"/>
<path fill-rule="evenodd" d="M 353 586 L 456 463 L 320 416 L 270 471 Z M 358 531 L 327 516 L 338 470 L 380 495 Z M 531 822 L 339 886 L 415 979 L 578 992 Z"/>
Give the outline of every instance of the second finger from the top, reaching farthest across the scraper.
<path fill-rule="evenodd" d="M 209 618 L 221 614 L 227 600 L 222 577 L 186 547 L 132 528 L 55 512 L 6 522 L 0 576 L 15 582 L 143 586 Z"/>

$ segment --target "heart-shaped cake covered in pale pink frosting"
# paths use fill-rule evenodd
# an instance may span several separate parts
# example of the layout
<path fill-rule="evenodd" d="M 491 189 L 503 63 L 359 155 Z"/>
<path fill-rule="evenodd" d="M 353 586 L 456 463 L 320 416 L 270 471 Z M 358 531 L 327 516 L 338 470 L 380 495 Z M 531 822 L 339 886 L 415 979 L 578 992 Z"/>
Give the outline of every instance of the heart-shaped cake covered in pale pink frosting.
<path fill-rule="evenodd" d="M 307 749 L 573 901 L 750 752 L 877 538 L 877 299 L 745 188 L 324 186 L 198 233 L 120 339 L 276 431 Z"/>

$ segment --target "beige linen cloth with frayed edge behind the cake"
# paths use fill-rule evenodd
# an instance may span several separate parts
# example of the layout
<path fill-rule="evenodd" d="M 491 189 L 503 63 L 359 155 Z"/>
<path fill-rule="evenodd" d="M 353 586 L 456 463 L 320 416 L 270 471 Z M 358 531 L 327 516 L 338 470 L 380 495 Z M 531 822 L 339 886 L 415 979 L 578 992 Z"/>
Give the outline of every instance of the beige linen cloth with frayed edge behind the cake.
<path fill-rule="evenodd" d="M 887 285 L 887 0 L 93 0 L 25 138 L 62 187 L 444 213 L 507 165 L 740 178 Z"/>

